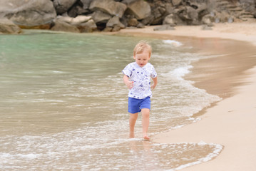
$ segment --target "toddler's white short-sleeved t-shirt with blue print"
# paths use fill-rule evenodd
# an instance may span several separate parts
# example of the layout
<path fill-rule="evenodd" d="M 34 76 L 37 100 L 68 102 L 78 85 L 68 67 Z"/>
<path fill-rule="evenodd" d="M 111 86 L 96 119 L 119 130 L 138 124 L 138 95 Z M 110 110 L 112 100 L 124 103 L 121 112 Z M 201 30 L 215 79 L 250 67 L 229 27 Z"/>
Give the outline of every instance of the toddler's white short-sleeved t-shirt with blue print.
<path fill-rule="evenodd" d="M 136 62 L 129 63 L 123 69 L 123 74 L 128 76 L 130 81 L 133 81 L 133 88 L 129 90 L 128 97 L 143 99 L 152 96 L 150 78 L 157 76 L 153 65 L 147 63 L 145 66 L 140 67 Z"/>

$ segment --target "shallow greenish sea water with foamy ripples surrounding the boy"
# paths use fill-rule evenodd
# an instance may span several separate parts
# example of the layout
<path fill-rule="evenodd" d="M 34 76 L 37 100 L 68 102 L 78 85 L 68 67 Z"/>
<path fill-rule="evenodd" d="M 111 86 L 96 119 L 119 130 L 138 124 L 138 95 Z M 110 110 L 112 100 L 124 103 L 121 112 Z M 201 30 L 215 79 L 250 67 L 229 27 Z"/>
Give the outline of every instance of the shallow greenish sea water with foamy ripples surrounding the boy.
<path fill-rule="evenodd" d="M 140 37 L 25 31 L 0 36 L 0 165 L 4 170 L 178 170 L 215 157 L 213 144 L 128 139 L 122 69 Z M 143 38 L 158 72 L 149 135 L 197 121 L 217 100 L 183 79 L 200 56 L 175 40 Z"/>

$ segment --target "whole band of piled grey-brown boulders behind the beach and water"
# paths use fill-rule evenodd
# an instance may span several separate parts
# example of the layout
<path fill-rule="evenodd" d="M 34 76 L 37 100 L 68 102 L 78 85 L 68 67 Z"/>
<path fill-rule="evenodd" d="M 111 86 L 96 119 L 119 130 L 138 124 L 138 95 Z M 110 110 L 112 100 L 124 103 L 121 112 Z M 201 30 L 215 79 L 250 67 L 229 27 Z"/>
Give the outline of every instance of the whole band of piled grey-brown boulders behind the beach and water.
<path fill-rule="evenodd" d="M 256 0 L 1 0 L 0 33 L 21 28 L 85 33 L 256 21 Z"/>

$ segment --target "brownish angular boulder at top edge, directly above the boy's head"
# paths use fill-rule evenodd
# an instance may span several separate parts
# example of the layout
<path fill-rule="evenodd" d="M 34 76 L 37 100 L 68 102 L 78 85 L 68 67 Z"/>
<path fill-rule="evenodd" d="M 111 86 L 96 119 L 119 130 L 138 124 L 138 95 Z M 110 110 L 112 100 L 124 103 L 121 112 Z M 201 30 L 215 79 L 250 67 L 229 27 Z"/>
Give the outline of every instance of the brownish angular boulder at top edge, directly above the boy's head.
<path fill-rule="evenodd" d="M 143 0 L 138 1 L 124 1 L 127 4 L 126 13 L 135 16 L 136 19 L 145 19 L 151 14 L 150 5 Z"/>

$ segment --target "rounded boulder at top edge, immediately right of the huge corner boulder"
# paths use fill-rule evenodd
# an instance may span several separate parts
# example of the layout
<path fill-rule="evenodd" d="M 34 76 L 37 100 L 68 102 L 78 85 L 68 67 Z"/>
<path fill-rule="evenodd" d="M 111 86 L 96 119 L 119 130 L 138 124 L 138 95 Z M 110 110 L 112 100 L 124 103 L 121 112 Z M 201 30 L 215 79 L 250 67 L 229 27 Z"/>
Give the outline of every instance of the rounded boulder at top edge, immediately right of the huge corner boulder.
<path fill-rule="evenodd" d="M 75 4 L 76 0 L 53 0 L 57 14 L 63 14 Z"/>

